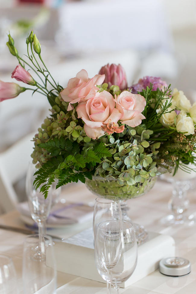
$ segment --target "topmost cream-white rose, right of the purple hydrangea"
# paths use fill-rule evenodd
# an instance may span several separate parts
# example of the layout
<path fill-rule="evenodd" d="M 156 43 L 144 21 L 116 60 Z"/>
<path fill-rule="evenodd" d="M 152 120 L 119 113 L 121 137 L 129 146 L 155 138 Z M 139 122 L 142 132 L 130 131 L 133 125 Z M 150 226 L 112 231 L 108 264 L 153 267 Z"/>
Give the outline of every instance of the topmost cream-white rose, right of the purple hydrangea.
<path fill-rule="evenodd" d="M 189 112 L 191 108 L 191 103 L 184 95 L 184 92 L 178 91 L 176 88 L 173 90 L 172 105 L 186 112 Z"/>

